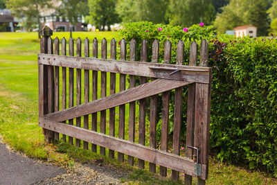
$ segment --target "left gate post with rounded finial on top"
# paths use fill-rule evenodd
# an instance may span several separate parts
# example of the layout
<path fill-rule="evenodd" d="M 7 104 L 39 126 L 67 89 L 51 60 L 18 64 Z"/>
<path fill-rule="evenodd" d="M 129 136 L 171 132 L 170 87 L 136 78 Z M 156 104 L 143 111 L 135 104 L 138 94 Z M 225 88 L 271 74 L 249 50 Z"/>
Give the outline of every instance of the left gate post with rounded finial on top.
<path fill-rule="evenodd" d="M 53 31 L 44 26 L 40 30 L 42 39 L 40 40 L 40 53 L 48 53 L 48 38 L 53 35 Z M 43 118 L 45 114 L 48 114 L 48 66 L 39 64 L 39 117 Z M 44 134 L 44 140 L 51 142 L 54 138 L 51 130 L 42 129 Z"/>

